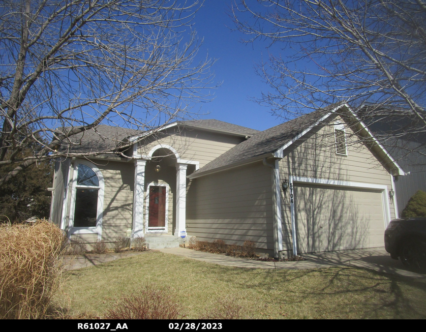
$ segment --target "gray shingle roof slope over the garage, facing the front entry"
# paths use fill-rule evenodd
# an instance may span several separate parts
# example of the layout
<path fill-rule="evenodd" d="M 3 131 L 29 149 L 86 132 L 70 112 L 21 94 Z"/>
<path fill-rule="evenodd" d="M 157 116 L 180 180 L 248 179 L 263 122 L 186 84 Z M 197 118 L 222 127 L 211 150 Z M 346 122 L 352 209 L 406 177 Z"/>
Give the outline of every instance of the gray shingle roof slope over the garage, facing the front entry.
<path fill-rule="evenodd" d="M 330 108 L 321 109 L 258 132 L 248 140 L 218 156 L 193 174 L 201 174 L 215 168 L 228 166 L 236 162 L 272 153 L 291 141 L 306 128 L 309 128 L 329 111 Z"/>

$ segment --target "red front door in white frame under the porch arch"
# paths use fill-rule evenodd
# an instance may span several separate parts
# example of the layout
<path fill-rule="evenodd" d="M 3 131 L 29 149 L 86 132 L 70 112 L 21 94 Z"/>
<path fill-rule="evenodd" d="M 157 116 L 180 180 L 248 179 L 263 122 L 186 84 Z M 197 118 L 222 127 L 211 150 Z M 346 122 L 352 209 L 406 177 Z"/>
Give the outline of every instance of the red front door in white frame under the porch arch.
<path fill-rule="evenodd" d="M 148 210 L 148 232 L 162 233 L 166 229 L 166 187 L 150 185 L 149 210 Z"/>

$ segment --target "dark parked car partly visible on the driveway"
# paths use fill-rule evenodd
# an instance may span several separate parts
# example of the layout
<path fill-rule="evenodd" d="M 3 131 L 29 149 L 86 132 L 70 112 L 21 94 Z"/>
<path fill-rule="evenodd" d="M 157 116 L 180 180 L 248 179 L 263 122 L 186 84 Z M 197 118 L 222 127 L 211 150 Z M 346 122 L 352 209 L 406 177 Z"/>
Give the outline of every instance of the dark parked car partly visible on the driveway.
<path fill-rule="evenodd" d="M 392 220 L 385 230 L 385 249 L 410 270 L 426 272 L 426 218 Z"/>

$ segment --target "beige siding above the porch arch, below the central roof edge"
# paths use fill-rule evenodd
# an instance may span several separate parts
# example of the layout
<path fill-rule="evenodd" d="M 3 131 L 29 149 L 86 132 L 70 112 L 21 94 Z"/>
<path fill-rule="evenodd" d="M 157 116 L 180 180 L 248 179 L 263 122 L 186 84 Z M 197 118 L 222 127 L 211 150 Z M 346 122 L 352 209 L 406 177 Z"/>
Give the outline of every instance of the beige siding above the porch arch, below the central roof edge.
<path fill-rule="evenodd" d="M 198 161 L 201 168 L 242 141 L 242 137 L 232 135 L 170 128 L 166 134 L 142 141 L 139 153 L 147 155 L 156 145 L 168 145 L 178 152 L 181 159 Z"/>

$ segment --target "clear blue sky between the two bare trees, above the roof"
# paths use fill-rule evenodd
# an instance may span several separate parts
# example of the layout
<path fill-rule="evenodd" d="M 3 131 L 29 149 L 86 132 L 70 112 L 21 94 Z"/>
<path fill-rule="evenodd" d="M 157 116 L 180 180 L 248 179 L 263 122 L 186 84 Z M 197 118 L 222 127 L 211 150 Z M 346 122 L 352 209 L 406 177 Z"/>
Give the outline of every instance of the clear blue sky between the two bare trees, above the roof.
<path fill-rule="evenodd" d="M 200 119 L 216 119 L 245 127 L 265 130 L 282 122 L 270 113 L 266 106 L 249 100 L 259 97 L 268 87 L 257 76 L 254 66 L 260 63 L 262 56 L 268 57 L 265 43 L 241 43 L 243 34 L 232 31 L 232 19 L 227 15 L 232 0 L 206 0 L 195 15 L 194 29 L 199 38 L 204 38 L 200 55 L 208 53 L 216 59 L 213 65 L 215 82 L 222 82 L 215 89 L 213 101 L 195 106 Z"/>

